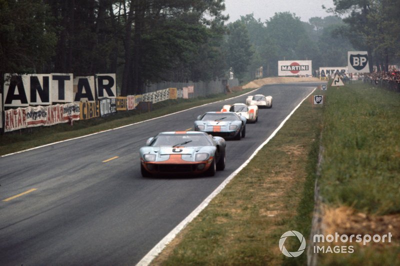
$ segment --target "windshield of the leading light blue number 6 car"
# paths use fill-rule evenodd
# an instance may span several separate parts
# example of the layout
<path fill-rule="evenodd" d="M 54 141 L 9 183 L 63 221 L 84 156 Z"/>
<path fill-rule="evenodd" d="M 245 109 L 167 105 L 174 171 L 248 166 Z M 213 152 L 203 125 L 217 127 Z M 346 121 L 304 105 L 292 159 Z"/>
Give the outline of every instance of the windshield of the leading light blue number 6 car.
<path fill-rule="evenodd" d="M 204 134 L 160 134 L 151 146 L 196 147 L 209 146 L 211 142 Z"/>

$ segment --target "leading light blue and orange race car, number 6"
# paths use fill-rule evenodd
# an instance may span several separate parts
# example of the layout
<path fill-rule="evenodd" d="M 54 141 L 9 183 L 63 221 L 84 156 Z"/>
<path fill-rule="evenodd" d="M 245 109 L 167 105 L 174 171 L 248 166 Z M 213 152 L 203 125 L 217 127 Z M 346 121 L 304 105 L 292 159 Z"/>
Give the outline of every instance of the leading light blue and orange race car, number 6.
<path fill-rule="evenodd" d="M 214 176 L 225 168 L 225 140 L 204 132 L 162 132 L 141 147 L 143 177 L 153 174 L 201 174 Z"/>

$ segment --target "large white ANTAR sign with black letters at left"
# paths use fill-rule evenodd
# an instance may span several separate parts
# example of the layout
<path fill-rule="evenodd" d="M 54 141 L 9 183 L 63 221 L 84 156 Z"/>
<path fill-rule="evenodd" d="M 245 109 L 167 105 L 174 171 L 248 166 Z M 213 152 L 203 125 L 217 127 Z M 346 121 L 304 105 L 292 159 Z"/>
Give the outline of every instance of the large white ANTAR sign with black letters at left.
<path fill-rule="evenodd" d="M 26 107 L 95 101 L 116 97 L 115 74 L 75 77 L 72 74 L 4 74 L 4 107 Z M 97 85 L 97 91 L 95 91 Z M 99 95 L 99 96 L 97 96 Z"/>

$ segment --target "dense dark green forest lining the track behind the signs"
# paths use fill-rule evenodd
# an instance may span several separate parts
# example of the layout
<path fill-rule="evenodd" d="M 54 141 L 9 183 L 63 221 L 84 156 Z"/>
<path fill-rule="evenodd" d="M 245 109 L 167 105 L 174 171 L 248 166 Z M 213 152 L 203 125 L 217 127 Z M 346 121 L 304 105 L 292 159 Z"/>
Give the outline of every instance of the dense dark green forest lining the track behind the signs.
<path fill-rule="evenodd" d="M 146 83 L 223 78 L 229 69 L 241 80 L 260 66 L 273 76 L 278 60 L 344 66 L 348 50 L 368 51 L 382 70 L 398 62 L 398 0 L 333 3 L 329 16 L 307 22 L 287 11 L 228 23 L 223 0 L 0 0 L 1 79 L 117 73 L 126 95 Z"/>

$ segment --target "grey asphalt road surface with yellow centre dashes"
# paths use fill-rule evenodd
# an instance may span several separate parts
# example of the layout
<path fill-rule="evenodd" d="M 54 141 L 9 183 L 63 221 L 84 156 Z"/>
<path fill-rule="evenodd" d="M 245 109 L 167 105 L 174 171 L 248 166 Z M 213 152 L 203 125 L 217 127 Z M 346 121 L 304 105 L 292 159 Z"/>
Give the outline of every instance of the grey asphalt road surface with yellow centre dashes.
<path fill-rule="evenodd" d="M 0 265 L 134 265 L 239 167 L 317 84 L 268 85 L 215 177 L 142 178 L 138 150 L 246 96 L 0 158 Z M 7 201 L 4 201 L 7 200 Z"/>

